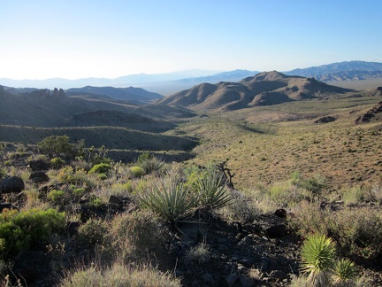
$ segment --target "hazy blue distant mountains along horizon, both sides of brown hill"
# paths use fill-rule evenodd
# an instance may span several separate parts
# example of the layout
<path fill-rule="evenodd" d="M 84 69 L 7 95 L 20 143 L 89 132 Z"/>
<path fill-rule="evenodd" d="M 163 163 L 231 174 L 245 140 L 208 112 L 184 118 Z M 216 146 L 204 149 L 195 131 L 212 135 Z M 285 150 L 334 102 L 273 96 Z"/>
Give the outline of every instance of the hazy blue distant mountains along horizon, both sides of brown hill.
<path fill-rule="evenodd" d="M 258 71 L 233 70 L 214 74 L 208 71 L 186 71 L 168 74 L 130 74 L 115 79 L 84 78 L 79 80 L 48 79 L 48 80 L 11 80 L 0 79 L 0 85 L 9 87 L 33 87 L 39 89 L 74 87 L 102 87 L 112 86 L 116 88 L 140 87 L 161 95 L 172 95 L 182 89 L 189 89 L 202 82 L 217 83 L 218 81 L 241 81 L 241 79 L 254 76 Z M 312 66 L 303 69 L 294 69 L 283 72 L 287 75 L 300 75 L 314 77 L 317 81 L 354 81 L 370 78 L 382 79 L 382 63 L 349 61 L 332 63 L 323 66 Z"/>

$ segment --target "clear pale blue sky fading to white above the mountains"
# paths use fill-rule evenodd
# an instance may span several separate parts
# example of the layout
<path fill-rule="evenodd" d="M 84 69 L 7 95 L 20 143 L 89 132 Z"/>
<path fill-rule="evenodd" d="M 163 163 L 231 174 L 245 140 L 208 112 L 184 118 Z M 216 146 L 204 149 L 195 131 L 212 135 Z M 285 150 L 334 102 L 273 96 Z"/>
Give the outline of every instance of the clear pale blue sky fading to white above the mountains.
<path fill-rule="evenodd" d="M 381 0 L 0 0 L 0 78 L 382 62 Z"/>

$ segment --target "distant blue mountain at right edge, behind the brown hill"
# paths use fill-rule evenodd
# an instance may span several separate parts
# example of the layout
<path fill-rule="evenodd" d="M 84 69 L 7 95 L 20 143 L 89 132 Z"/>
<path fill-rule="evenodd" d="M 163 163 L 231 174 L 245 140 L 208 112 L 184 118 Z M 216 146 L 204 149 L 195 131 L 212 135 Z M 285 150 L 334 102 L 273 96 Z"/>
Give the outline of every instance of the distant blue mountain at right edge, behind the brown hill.
<path fill-rule="evenodd" d="M 314 77 L 317 81 L 354 81 L 382 77 L 382 63 L 349 61 L 311 66 L 286 72 L 289 75 Z"/>

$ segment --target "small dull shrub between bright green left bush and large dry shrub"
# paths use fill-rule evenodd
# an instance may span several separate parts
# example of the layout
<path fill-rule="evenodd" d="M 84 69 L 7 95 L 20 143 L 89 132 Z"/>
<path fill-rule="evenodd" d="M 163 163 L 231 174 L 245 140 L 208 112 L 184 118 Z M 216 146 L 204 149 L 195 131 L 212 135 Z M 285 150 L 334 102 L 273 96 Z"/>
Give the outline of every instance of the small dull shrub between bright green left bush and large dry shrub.
<path fill-rule="evenodd" d="M 94 246 L 103 244 L 108 234 L 108 223 L 102 219 L 90 218 L 78 229 L 76 239 L 80 244 Z"/>

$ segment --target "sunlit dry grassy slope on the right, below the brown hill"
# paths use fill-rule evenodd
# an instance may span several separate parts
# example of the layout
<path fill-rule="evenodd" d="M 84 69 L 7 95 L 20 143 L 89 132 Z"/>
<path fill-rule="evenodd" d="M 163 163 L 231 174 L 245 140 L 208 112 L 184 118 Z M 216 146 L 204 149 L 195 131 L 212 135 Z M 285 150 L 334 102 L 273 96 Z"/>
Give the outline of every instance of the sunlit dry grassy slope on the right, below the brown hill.
<path fill-rule="evenodd" d="M 380 124 L 354 122 L 380 100 L 343 98 L 258 107 L 194 120 L 180 128 L 202 140 L 190 162 L 229 159 L 233 182 L 241 189 L 286 181 L 295 171 L 306 178 L 322 175 L 337 187 L 371 185 L 382 180 Z M 337 120 L 313 123 L 329 114 Z M 279 115 L 291 120 L 279 121 Z"/>

